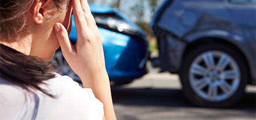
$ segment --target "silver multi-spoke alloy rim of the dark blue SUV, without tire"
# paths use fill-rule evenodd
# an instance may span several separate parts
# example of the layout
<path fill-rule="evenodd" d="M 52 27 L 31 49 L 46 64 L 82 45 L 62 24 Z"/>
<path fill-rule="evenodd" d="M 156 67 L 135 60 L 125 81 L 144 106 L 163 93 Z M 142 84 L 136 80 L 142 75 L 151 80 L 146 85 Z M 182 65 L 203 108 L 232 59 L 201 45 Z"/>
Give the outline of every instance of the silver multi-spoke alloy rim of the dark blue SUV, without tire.
<path fill-rule="evenodd" d="M 222 101 L 232 96 L 240 85 L 240 68 L 232 56 L 219 50 L 203 52 L 189 67 L 189 83 L 202 99 Z"/>

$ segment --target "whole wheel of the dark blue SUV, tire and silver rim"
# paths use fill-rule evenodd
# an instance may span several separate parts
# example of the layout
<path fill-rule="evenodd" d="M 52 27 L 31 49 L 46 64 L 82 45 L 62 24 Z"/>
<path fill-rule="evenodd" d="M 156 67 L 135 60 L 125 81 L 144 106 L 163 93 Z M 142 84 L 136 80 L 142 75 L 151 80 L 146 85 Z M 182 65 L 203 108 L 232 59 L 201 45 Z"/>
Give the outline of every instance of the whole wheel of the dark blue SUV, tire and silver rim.
<path fill-rule="evenodd" d="M 198 46 L 187 54 L 181 67 L 183 92 L 198 106 L 232 106 L 248 83 L 246 66 L 239 52 L 227 45 Z"/>

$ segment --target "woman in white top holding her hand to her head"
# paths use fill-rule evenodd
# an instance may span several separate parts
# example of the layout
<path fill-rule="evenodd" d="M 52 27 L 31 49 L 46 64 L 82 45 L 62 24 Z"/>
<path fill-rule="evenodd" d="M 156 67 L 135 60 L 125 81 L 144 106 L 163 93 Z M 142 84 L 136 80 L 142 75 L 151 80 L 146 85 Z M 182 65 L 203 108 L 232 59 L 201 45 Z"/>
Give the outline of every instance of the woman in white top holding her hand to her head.
<path fill-rule="evenodd" d="M 116 120 L 101 36 L 87 0 L 0 2 L 0 119 Z M 68 38 L 72 13 L 74 46 Z M 84 89 L 47 63 L 59 47 Z"/>

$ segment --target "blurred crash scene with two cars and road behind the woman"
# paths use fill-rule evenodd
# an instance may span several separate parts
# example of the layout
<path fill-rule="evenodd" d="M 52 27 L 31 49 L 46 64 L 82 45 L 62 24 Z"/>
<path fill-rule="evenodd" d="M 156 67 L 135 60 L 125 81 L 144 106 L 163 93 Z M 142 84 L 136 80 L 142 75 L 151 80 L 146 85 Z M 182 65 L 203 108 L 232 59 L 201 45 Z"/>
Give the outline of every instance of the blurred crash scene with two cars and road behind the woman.
<path fill-rule="evenodd" d="M 256 0 L 88 2 L 117 120 L 256 120 Z"/>

